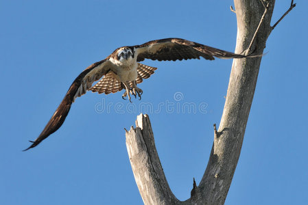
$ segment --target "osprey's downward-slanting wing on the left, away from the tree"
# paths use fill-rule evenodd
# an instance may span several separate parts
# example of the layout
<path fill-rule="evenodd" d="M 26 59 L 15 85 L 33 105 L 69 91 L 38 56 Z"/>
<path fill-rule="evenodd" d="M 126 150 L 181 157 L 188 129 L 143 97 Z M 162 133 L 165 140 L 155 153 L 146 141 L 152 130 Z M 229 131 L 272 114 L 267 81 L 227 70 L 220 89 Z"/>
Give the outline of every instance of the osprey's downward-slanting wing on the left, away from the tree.
<path fill-rule="evenodd" d="M 60 126 L 63 124 L 65 118 L 67 118 L 67 114 L 69 113 L 69 109 L 71 109 L 71 104 L 75 101 L 75 98 L 85 94 L 86 91 L 91 88 L 92 83 L 94 81 L 98 81 L 103 75 L 105 75 L 110 70 L 111 66 L 111 63 L 107 58 L 102 61 L 98 61 L 91 66 L 88 66 L 88 68 L 80 73 L 75 81 L 73 81 L 71 84 L 71 87 L 69 87 L 67 94 L 65 94 L 62 102 L 45 126 L 43 132 L 40 133 L 35 141 L 30 141 L 32 142 L 32 145 L 25 150 L 34 148 L 49 135 L 56 132 L 58 128 L 60 128 Z"/>

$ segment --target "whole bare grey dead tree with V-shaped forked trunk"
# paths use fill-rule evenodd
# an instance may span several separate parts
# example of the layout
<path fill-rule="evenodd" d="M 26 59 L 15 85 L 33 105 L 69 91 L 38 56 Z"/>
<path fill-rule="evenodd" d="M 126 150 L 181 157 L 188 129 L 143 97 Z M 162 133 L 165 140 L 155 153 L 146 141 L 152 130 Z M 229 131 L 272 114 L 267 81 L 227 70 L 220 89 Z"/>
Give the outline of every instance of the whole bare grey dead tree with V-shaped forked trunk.
<path fill-rule="evenodd" d="M 235 53 L 263 53 L 270 33 L 285 15 L 295 7 L 293 0 L 285 14 L 270 25 L 274 0 L 235 0 L 237 15 L 237 44 Z M 247 49 L 248 48 L 248 49 Z M 241 145 L 261 57 L 234 59 L 228 84 L 226 103 L 220 127 L 214 124 L 214 142 L 200 184 L 193 180 L 191 197 L 180 202 L 172 193 L 159 160 L 150 119 L 139 115 L 136 128 L 126 131 L 126 146 L 134 178 L 144 204 L 224 204 L 230 187 Z"/>

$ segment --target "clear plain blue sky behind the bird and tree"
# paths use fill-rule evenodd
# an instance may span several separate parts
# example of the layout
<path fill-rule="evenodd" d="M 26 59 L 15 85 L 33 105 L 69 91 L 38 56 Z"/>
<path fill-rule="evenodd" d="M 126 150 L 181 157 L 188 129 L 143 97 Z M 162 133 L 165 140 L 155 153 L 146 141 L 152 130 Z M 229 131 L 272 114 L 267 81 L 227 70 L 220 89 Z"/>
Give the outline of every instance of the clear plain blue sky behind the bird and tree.
<path fill-rule="evenodd" d="M 158 70 L 140 84 L 141 101 L 88 92 L 56 133 L 21 150 L 75 77 L 119 46 L 178 37 L 234 51 L 230 3 L 0 1 L 0 204 L 143 204 L 123 129 L 145 112 L 141 103 L 163 105 L 147 111 L 156 147 L 172 191 L 189 198 L 193 177 L 200 182 L 209 159 L 232 60 L 143 61 Z M 296 3 L 268 39 L 226 204 L 308 202 L 308 2 Z M 272 24 L 287 8 L 289 1 L 276 1 Z M 169 102 L 174 111 L 166 109 Z M 185 103 L 205 106 L 176 110 Z"/>

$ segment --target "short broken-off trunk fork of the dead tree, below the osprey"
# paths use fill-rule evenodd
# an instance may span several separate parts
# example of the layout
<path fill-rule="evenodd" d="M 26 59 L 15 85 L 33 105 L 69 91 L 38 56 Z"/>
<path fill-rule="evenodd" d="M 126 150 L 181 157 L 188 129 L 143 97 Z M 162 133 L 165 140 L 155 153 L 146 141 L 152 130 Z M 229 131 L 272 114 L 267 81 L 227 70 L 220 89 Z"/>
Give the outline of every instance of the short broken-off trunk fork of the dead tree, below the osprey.
<path fill-rule="evenodd" d="M 136 128 L 126 131 L 126 148 L 132 172 L 145 204 L 176 204 L 154 142 L 148 115 L 138 115 Z"/>

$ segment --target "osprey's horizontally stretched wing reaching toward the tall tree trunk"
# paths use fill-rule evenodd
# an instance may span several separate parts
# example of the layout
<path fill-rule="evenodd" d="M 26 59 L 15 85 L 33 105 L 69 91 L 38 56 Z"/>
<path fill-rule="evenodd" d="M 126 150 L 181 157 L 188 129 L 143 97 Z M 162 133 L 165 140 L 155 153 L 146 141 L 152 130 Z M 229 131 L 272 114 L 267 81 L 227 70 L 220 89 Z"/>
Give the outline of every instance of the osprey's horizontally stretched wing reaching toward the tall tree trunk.
<path fill-rule="evenodd" d="M 152 40 L 134 46 L 137 51 L 137 61 L 143 61 L 144 59 L 152 59 L 158 61 L 176 61 L 182 59 L 204 59 L 213 60 L 214 57 L 219 58 L 242 58 L 252 57 L 246 55 L 240 55 L 215 49 L 210 46 L 192 42 L 181 38 L 165 38 L 161 40 Z"/>

